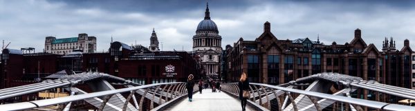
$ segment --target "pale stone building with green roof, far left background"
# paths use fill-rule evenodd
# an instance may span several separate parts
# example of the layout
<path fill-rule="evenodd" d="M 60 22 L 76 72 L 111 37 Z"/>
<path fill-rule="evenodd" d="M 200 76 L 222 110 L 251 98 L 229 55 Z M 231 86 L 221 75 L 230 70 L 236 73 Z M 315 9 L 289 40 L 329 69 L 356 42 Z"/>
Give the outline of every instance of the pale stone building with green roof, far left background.
<path fill-rule="evenodd" d="M 78 34 L 78 37 L 56 39 L 56 37 L 46 37 L 46 53 L 68 54 L 75 50 L 91 53 L 97 50 L 97 38 L 89 37 L 88 34 Z"/>

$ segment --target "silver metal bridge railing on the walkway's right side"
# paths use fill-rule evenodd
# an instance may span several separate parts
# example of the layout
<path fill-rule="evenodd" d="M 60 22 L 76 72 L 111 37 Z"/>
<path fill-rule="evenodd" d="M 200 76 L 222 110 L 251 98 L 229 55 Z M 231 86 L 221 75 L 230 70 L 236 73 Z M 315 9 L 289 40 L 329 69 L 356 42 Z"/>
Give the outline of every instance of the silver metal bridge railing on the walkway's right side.
<path fill-rule="evenodd" d="M 222 90 L 239 96 L 238 83 L 223 83 Z M 415 107 L 382 103 L 365 99 L 355 99 L 349 96 L 350 90 L 343 89 L 335 94 L 324 94 L 293 89 L 293 86 L 282 87 L 264 83 L 250 83 L 251 93 L 249 103 L 260 105 L 264 110 L 302 111 L 302 110 L 364 110 L 367 107 L 374 110 L 414 110 Z M 295 98 L 296 97 L 296 98 Z"/>

